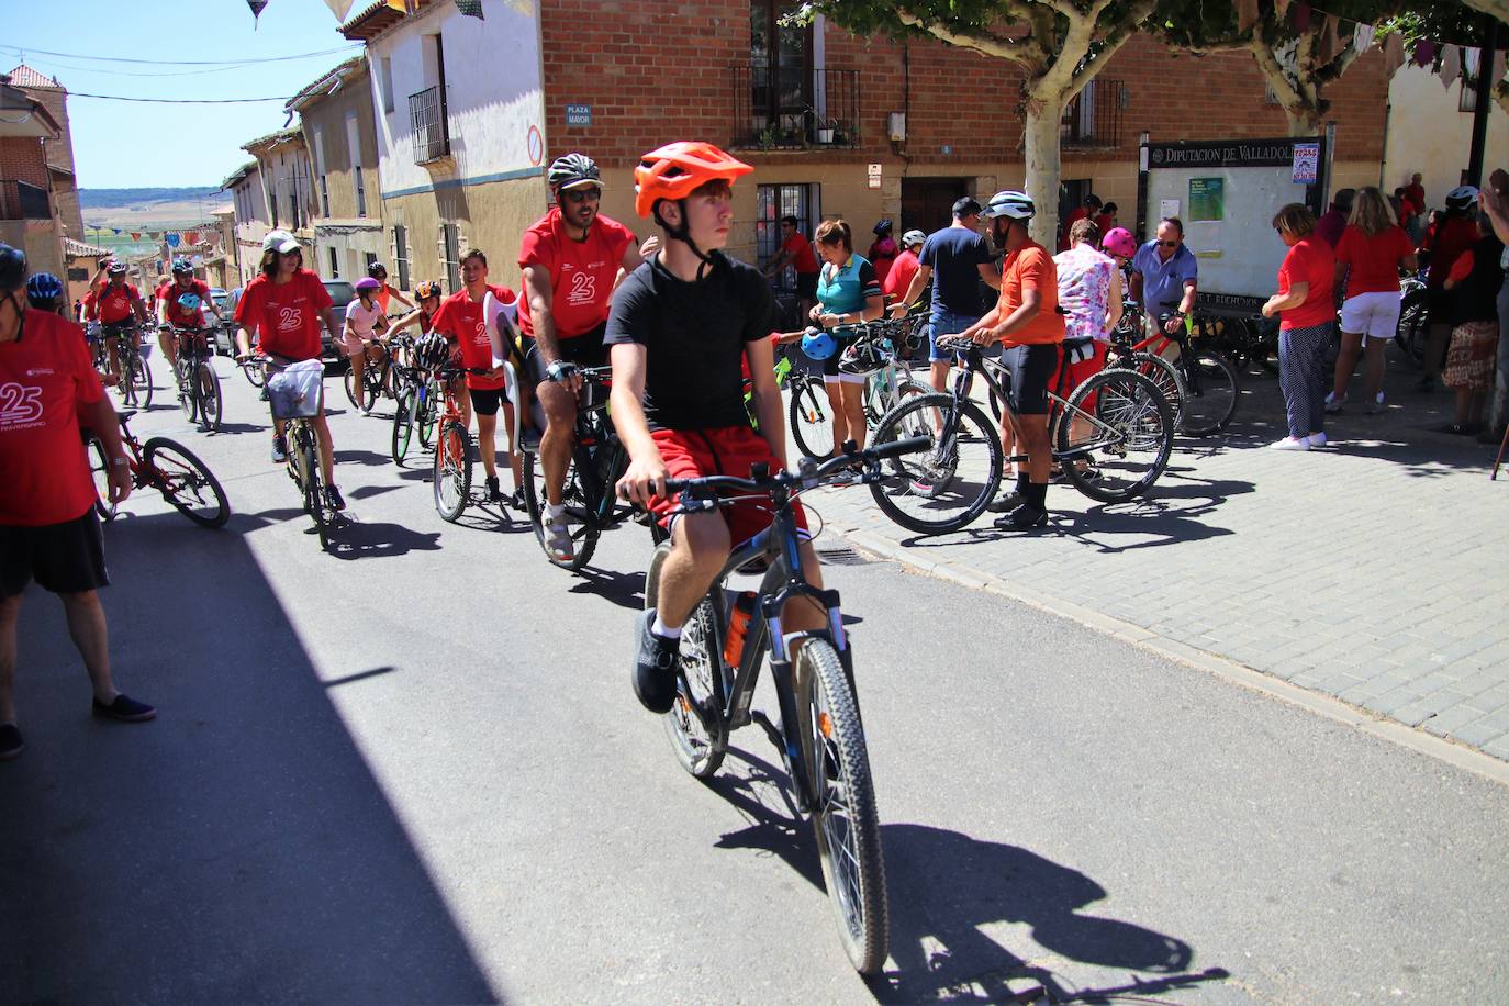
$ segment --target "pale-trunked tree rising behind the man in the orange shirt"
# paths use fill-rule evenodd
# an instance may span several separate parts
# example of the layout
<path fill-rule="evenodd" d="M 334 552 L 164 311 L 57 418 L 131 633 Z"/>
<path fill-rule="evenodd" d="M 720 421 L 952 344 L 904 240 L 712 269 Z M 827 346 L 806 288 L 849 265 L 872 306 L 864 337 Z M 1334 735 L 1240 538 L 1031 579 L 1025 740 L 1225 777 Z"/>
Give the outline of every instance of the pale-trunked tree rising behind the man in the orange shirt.
<path fill-rule="evenodd" d="M 813 0 L 822 14 L 865 36 L 937 39 L 1022 68 L 1026 190 L 1043 211 L 1032 237 L 1052 246 L 1061 175 L 1059 121 L 1106 60 L 1153 12 L 1157 0 Z M 1043 205 L 1046 204 L 1046 205 Z"/>

